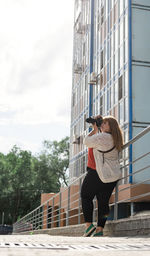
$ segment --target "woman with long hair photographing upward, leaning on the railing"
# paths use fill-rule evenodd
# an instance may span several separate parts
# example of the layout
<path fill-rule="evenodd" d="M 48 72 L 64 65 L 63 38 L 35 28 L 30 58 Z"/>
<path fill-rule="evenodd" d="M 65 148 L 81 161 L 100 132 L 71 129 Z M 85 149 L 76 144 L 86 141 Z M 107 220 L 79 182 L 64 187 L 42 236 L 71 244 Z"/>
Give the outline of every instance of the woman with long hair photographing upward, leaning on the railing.
<path fill-rule="evenodd" d="M 103 118 L 101 132 L 96 123 L 92 125 L 92 132 L 83 142 L 88 147 L 88 172 L 81 188 L 82 209 L 86 223 L 84 236 L 90 236 L 92 233 L 93 236 L 102 236 L 109 214 L 109 199 L 117 181 L 121 178 L 118 155 L 123 146 L 123 136 L 117 120 L 112 116 Z M 97 227 L 92 224 L 95 196 L 98 202 Z"/>

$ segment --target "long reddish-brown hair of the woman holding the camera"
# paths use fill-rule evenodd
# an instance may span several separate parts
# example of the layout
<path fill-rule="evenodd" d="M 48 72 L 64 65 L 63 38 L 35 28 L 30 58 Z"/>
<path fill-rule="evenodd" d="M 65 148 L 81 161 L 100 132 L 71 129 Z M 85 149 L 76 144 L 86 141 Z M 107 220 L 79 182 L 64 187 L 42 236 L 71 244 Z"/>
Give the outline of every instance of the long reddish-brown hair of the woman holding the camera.
<path fill-rule="evenodd" d="M 114 145 L 118 151 L 121 151 L 123 146 L 123 134 L 118 121 L 113 116 L 103 117 L 103 121 L 108 122 Z"/>

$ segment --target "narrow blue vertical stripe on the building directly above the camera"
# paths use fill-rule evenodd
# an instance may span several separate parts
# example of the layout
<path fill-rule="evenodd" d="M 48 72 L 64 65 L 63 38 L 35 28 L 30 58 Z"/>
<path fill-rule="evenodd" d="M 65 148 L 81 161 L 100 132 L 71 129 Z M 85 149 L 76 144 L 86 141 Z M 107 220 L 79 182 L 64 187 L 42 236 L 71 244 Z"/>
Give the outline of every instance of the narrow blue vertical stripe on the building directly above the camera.
<path fill-rule="evenodd" d="M 90 74 L 93 72 L 94 51 L 94 0 L 91 0 L 91 29 L 90 29 Z M 89 85 L 89 116 L 93 115 L 93 85 Z"/>

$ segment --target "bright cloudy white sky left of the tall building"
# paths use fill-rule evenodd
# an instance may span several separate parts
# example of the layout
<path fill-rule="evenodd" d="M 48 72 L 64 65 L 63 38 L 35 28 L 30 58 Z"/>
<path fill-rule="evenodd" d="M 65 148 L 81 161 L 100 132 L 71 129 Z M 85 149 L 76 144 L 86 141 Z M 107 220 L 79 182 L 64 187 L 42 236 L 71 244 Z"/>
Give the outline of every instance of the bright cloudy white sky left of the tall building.
<path fill-rule="evenodd" d="M 70 135 L 74 0 L 0 0 L 0 152 Z"/>

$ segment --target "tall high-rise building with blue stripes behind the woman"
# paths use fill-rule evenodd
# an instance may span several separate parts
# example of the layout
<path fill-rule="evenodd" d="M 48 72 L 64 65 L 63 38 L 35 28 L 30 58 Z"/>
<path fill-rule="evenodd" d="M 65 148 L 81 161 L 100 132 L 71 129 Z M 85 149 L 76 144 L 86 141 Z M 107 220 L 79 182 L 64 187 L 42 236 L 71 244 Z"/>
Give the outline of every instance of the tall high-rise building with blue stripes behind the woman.
<path fill-rule="evenodd" d="M 125 142 L 150 124 L 149 24 L 150 0 L 75 0 L 70 181 L 86 171 L 87 117 L 113 115 Z M 124 163 L 145 147 L 125 151 Z"/>

